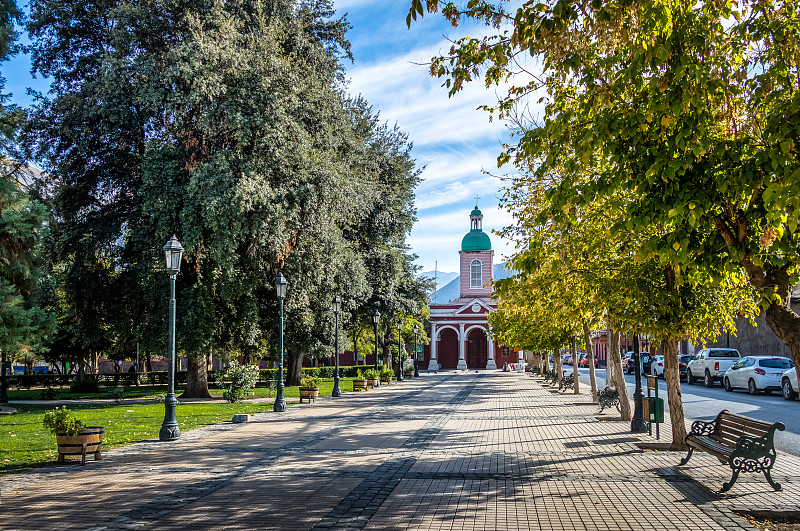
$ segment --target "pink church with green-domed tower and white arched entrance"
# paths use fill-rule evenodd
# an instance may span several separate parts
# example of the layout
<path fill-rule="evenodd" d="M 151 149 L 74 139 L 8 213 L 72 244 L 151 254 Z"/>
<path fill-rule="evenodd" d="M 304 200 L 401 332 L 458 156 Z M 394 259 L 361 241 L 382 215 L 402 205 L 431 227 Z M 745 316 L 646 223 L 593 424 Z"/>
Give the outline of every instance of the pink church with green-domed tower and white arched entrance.
<path fill-rule="evenodd" d="M 497 308 L 491 298 L 494 251 L 489 235 L 483 232 L 483 214 L 477 205 L 469 220 L 470 231 L 461 240 L 458 253 L 459 296 L 430 306 L 427 332 L 431 343 L 424 349 L 429 371 L 493 370 L 522 361 L 522 351 L 501 348 L 489 336 L 487 316 Z"/>

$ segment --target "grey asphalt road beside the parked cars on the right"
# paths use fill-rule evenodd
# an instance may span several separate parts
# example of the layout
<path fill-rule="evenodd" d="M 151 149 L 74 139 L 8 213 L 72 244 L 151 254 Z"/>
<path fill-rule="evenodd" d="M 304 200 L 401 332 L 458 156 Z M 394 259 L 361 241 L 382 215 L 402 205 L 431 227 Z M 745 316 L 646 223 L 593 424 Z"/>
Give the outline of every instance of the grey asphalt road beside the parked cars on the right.
<path fill-rule="evenodd" d="M 566 373 L 572 371 L 572 367 L 564 367 Z M 589 369 L 579 369 L 581 383 L 589 385 Z M 606 371 L 597 369 L 597 385 L 599 388 L 605 386 Z M 628 384 L 628 395 L 633 396 L 634 377 L 626 375 L 625 381 Z M 664 398 L 665 415 L 669 410 L 667 404 L 667 387 L 664 380 L 658 381 L 659 396 Z M 646 381 L 642 380 L 644 393 L 647 394 Z M 683 411 L 688 420 L 713 420 L 723 409 L 731 413 L 739 413 L 759 420 L 769 422 L 783 422 L 786 431 L 775 434 L 775 447 L 783 452 L 800 456 L 800 401 L 784 400 L 779 393 L 761 393 L 752 396 L 747 391 L 725 392 L 722 385 L 717 383 L 712 388 L 705 387 L 702 382 L 689 385 L 681 383 L 681 394 L 683 395 Z M 669 434 L 662 432 L 662 438 Z"/>

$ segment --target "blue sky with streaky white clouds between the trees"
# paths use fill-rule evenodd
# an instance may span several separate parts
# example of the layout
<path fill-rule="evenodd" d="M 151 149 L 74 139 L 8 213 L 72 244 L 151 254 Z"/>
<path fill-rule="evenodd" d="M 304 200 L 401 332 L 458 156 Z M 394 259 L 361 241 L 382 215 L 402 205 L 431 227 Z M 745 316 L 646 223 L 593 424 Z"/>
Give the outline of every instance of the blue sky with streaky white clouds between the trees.
<path fill-rule="evenodd" d="M 18 5 L 27 11 L 26 2 Z M 354 61 L 346 62 L 348 91 L 363 95 L 383 121 L 409 135 L 412 156 L 423 169 L 416 192 L 417 218 L 408 238 L 422 271 L 458 271 L 461 239 L 469 232 L 474 196 L 483 212 L 483 229 L 492 240 L 495 263 L 513 252 L 510 242 L 492 230 L 513 223 L 499 208 L 502 182 L 497 168 L 501 145 L 509 131 L 490 122 L 479 105 L 497 101 L 495 90 L 473 82 L 448 97 L 443 79 L 430 76 L 430 59 L 450 49 L 449 39 L 479 33 L 482 28 L 450 26 L 439 14 L 426 14 L 407 28 L 410 0 L 334 0 L 337 15 L 346 14 Z M 23 39 L 23 42 L 25 40 Z M 22 106 L 30 104 L 26 89 L 47 91 L 47 82 L 32 79 L 27 56 L 3 65 L 6 92 Z M 489 172 L 487 175 L 485 172 Z"/>

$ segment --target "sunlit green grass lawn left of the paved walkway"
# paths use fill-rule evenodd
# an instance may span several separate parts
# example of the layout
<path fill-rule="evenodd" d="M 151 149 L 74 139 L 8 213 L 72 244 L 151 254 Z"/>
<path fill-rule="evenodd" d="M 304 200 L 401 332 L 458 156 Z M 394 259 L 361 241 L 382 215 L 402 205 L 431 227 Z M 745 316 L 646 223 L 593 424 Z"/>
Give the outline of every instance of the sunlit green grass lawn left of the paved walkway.
<path fill-rule="evenodd" d="M 342 391 L 352 391 L 350 383 L 352 378 L 342 378 L 340 388 Z M 154 390 L 155 389 L 155 390 Z M 333 389 L 333 380 L 323 380 L 320 387 L 320 396 L 330 396 Z M 149 395 L 166 392 L 163 388 L 126 388 L 128 398 L 146 396 L 139 391 L 148 390 Z M 136 392 L 134 392 L 136 391 Z M 269 389 L 254 389 L 256 397 L 267 397 Z M 177 391 L 180 393 L 180 390 Z M 21 393 L 21 395 L 17 394 Z M 39 391 L 9 390 L 10 400 L 31 400 Z M 62 393 L 59 393 L 62 394 Z M 211 394 L 222 396 L 222 390 L 212 389 Z M 76 397 L 65 390 L 63 395 Z M 23 396 L 25 398 L 23 398 Z M 30 398 L 28 398 L 30 396 Z M 77 395 L 80 398 L 107 398 L 107 392 L 94 393 L 93 395 Z M 275 396 L 275 393 L 272 393 Z M 287 399 L 300 396 L 298 387 L 286 387 L 284 396 Z M 61 397 L 59 397 L 61 398 Z M 289 405 L 297 401 L 289 401 Z M 13 415 L 0 415 L 0 474 L 19 471 L 28 468 L 53 463 L 58 458 L 56 451 L 56 437 L 42 426 L 44 412 L 52 409 L 52 405 L 44 404 L 9 404 L 17 410 Z M 157 439 L 164 420 L 163 404 L 72 404 L 68 406 L 74 410 L 76 416 L 87 426 L 103 426 L 103 448 L 109 449 L 116 446 L 135 443 L 148 439 Z M 272 404 L 248 403 L 216 404 L 196 403 L 179 404 L 176 412 L 181 431 L 188 431 L 200 426 L 217 424 L 230 420 L 236 413 L 262 413 L 272 411 Z M 74 460 L 75 458 L 72 458 Z M 91 458 L 89 458 L 91 459 Z"/>

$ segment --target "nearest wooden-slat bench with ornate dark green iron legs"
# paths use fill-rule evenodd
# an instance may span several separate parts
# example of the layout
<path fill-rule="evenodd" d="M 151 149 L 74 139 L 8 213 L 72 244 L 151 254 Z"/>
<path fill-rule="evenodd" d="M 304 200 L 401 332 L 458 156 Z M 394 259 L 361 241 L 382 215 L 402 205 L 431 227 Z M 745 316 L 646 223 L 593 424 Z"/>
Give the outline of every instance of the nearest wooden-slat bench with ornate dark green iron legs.
<path fill-rule="evenodd" d="M 720 411 L 713 422 L 697 420 L 686 436 L 689 454 L 681 460 L 681 465 L 689 462 L 695 449 L 709 453 L 722 463 L 727 463 L 733 471 L 731 480 L 722 484 L 725 492 L 733 487 L 739 472 L 764 472 L 764 477 L 775 490 L 781 484 L 772 480 L 769 471 L 775 464 L 775 430 L 783 431 L 782 422 L 764 422 L 743 415 Z"/>

